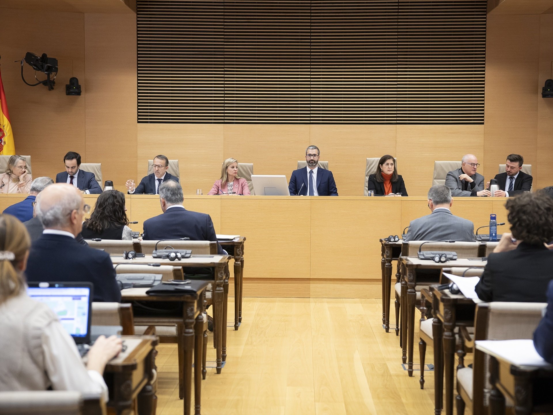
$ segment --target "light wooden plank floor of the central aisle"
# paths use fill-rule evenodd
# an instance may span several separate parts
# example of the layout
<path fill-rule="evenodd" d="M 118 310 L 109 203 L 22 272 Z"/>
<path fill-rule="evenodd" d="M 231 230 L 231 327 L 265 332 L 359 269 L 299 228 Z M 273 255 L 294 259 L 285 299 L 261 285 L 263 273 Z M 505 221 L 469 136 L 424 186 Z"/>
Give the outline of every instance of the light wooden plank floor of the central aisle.
<path fill-rule="evenodd" d="M 215 360 L 211 333 L 209 341 Z M 176 344 L 158 350 L 158 414 L 182 414 Z M 432 353 L 427 347 L 427 364 Z M 228 328 L 226 366 L 202 382 L 202 414 L 433 414 L 434 373 L 425 380 L 421 390 L 419 371 L 403 370 L 380 300 L 244 298 L 240 329 Z"/>

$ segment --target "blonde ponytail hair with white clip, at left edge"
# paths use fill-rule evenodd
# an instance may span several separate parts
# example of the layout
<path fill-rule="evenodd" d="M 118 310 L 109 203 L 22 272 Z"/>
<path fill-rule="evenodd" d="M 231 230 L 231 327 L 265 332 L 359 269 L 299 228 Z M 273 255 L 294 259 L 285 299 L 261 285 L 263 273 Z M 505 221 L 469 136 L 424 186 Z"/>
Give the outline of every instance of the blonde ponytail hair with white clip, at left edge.
<path fill-rule="evenodd" d="M 25 289 L 25 277 L 17 265 L 30 246 L 25 225 L 12 215 L 0 214 L 0 304 Z"/>

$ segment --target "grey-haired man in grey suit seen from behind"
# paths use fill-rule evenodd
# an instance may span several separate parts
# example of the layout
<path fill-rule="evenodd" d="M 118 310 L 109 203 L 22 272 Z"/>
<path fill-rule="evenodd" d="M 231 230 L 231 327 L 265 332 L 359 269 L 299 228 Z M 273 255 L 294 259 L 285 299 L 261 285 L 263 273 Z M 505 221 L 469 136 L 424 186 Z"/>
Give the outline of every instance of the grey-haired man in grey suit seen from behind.
<path fill-rule="evenodd" d="M 411 220 L 405 241 L 412 240 L 455 240 L 476 242 L 474 224 L 467 219 L 453 215 L 451 191 L 447 186 L 432 186 L 428 191 L 428 207 L 431 214 Z"/>

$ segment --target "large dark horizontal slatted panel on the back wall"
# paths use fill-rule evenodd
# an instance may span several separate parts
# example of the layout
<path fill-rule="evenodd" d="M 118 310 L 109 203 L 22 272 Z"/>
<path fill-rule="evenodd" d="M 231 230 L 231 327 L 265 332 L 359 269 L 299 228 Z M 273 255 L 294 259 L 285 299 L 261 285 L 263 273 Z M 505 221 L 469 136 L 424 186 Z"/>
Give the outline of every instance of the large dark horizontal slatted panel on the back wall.
<path fill-rule="evenodd" d="M 138 0 L 138 122 L 483 124 L 486 0 Z"/>

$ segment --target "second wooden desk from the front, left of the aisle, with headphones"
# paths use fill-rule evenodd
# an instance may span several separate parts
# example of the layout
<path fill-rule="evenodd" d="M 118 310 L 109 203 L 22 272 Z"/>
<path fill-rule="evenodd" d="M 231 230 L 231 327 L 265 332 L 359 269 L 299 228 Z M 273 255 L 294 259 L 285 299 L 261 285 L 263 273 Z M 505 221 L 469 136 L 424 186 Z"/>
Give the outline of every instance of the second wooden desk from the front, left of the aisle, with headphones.
<path fill-rule="evenodd" d="M 124 259 L 122 255 L 111 255 L 113 264 L 152 264 L 156 262 L 161 265 L 182 266 L 182 267 L 208 267 L 215 269 L 213 280 L 213 330 L 215 345 L 217 349 L 217 373 L 221 373 L 222 363 L 227 356 L 227 296 L 228 296 L 228 255 L 192 255 L 190 258 L 183 258 L 180 261 L 169 261 L 168 259 L 153 258 L 146 255 L 144 258 Z M 225 322 L 225 323 L 223 323 Z"/>

